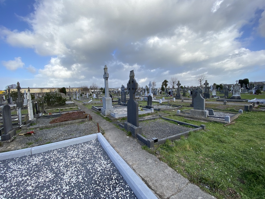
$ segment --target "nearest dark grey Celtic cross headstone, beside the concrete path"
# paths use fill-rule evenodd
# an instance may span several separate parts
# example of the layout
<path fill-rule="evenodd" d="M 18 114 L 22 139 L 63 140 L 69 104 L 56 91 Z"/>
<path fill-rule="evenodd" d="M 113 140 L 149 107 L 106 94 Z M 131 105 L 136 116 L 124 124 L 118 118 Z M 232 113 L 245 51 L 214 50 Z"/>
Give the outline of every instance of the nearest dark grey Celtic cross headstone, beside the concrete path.
<path fill-rule="evenodd" d="M 127 83 L 127 89 L 130 94 L 130 99 L 127 102 L 127 122 L 124 123 L 124 128 L 130 131 L 132 136 L 142 134 L 142 127 L 139 127 L 138 103 L 135 99 L 135 92 L 138 88 L 138 83 L 134 79 L 134 70 L 130 71 L 130 79 Z"/>

